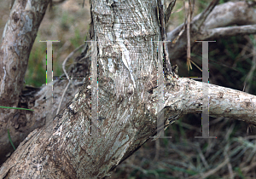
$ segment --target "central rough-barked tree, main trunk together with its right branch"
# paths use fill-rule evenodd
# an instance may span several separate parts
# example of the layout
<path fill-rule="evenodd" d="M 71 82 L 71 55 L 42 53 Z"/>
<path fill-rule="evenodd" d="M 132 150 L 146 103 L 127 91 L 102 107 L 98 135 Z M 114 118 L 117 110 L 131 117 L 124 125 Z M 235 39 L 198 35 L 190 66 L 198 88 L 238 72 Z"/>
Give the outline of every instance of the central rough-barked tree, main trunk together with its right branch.
<path fill-rule="evenodd" d="M 213 2 L 212 4 L 216 5 L 217 1 Z M 36 1 L 28 0 L 21 7 L 20 3 L 22 2 L 17 1 L 11 11 L 10 20 L 15 20 L 15 23 L 23 22 L 22 18 L 14 18 L 12 15 L 15 14 L 15 9 L 22 9 L 20 12 L 24 13 L 24 21 L 30 18 L 26 15 L 27 12 L 31 10 L 38 12 L 36 9 L 26 9 L 26 7 L 33 7 Z M 43 4 L 41 5 L 44 7 Z M 91 66 L 95 66 L 96 59 L 98 63 L 98 123 L 94 124 L 90 120 L 96 118 L 94 115 L 90 118 L 90 113 L 96 110 L 94 108 L 96 100 L 90 98 L 96 95 L 96 86 L 87 80 L 68 104 L 67 101 L 71 97 L 66 98 L 63 104 L 67 104 L 67 107 L 60 115 L 48 121 L 42 129 L 33 130 L 25 141 L 20 143 L 15 153 L 2 165 L 1 178 L 102 178 L 108 176 L 121 161 L 127 159 L 148 141 L 150 136 L 156 134 L 158 117 L 164 119 L 164 124 L 161 125 L 163 128 L 183 114 L 201 113 L 201 105 L 207 100 L 207 97 L 202 97 L 203 86 L 208 88 L 210 96 L 210 115 L 243 118 L 247 123 L 256 124 L 254 95 L 204 84 L 189 78 L 157 76 L 162 71 L 163 64 L 159 60 L 160 25 L 156 9 L 157 3 L 147 0 L 91 1 L 90 35 L 91 40 L 97 42 L 97 46 L 91 46 L 91 50 L 85 48 L 84 52 L 89 54 L 87 59 L 90 59 L 90 56 L 93 57 Z M 23 29 L 27 31 L 25 27 Z M 5 37 L 7 32 L 5 31 Z M 3 42 L 7 41 L 3 39 Z M 19 42 L 23 45 L 24 41 Z M 29 42 L 32 45 L 33 40 Z M 18 41 L 15 41 L 16 43 Z M 1 59 L 9 55 L 4 50 L 12 49 L 10 48 L 12 44 L 7 46 L 9 48 L 1 49 L 3 56 Z M 29 51 L 27 50 L 26 53 L 29 54 Z M 27 56 L 25 59 L 27 61 Z M 1 61 L 0 66 L 0 75 L 3 77 L 1 78 L 1 100 L 3 100 L 3 92 L 7 92 L 3 90 L 3 86 L 8 86 L 5 77 L 9 75 L 7 73 L 9 65 Z M 88 66 L 84 68 L 88 71 Z M 93 70 L 96 68 L 92 67 Z M 79 73 L 79 66 L 76 66 L 73 72 Z M 20 77 L 21 80 L 23 78 Z M 160 79 L 158 83 L 157 79 Z M 17 82 L 15 84 L 18 85 Z M 56 100 L 53 109 L 56 109 L 61 91 L 67 81 L 55 81 L 54 84 Z M 23 120 L 33 118 L 32 121 L 40 121 L 41 125 L 38 122 L 30 125 L 30 130 L 45 123 L 47 113 L 41 114 L 45 107 L 45 103 L 42 102 L 45 101 L 43 99 L 45 90 L 46 87 L 34 95 L 36 102 L 32 108 L 35 111 Z M 11 106 L 17 105 L 20 91 L 14 93 L 16 101 Z M 164 91 L 164 94 L 160 95 L 161 91 Z M 164 103 L 161 103 L 160 96 L 165 100 Z M 42 105 L 38 105 L 40 103 Z M 3 102 L 1 101 L 0 104 L 3 105 Z M 3 128 L 6 129 L 7 125 L 10 128 L 13 127 L 14 121 L 18 121 L 17 118 L 20 118 L 20 115 L 26 116 L 25 112 L 17 114 L 15 110 L 10 113 L 5 110 Z M 9 116 L 14 119 L 9 119 Z M 91 129 L 94 129 L 95 125 L 98 126 L 98 137 L 91 136 L 94 135 Z M 22 127 L 24 126 L 20 128 Z M 15 130 L 14 127 L 13 130 Z M 22 134 L 27 133 L 24 132 L 24 128 L 22 132 Z M 19 140 L 16 139 L 16 142 Z"/>

